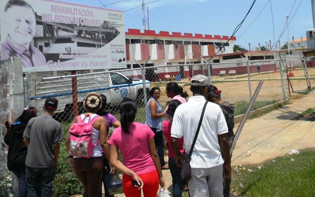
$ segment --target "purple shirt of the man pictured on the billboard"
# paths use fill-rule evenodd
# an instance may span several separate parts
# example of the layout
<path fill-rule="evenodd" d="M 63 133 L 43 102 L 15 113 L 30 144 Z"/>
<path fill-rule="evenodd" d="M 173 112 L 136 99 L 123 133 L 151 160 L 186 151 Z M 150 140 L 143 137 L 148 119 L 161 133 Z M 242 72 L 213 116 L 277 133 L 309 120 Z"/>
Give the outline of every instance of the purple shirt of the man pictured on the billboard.
<path fill-rule="evenodd" d="M 46 65 L 44 55 L 36 47 L 30 44 L 29 49 L 25 48 L 8 35 L 6 41 L 2 44 L 2 60 L 10 57 L 22 58 L 23 68 Z"/>

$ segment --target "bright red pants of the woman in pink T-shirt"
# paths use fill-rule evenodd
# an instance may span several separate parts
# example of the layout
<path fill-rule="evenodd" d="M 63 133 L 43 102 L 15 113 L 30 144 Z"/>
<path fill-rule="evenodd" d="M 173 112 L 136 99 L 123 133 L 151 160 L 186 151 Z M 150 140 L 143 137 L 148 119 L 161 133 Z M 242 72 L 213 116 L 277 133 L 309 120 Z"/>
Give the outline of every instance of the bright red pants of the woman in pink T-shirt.
<path fill-rule="evenodd" d="M 143 181 L 143 195 L 147 197 L 156 197 L 159 190 L 159 174 L 158 171 L 148 172 L 138 175 Z M 123 190 L 126 197 L 141 196 L 141 190 L 131 184 L 132 177 L 123 175 Z"/>

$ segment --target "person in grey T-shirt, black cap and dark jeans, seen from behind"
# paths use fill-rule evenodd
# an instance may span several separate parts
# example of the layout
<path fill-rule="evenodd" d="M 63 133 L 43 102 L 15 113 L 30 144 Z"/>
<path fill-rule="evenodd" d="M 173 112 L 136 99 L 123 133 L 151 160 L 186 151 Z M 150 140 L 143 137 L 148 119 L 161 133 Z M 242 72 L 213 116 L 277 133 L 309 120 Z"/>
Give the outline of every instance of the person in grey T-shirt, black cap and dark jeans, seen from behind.
<path fill-rule="evenodd" d="M 56 98 L 47 98 L 44 114 L 32 118 L 23 133 L 27 150 L 26 181 L 28 196 L 53 196 L 53 180 L 58 166 L 59 142 L 63 131 L 53 119 L 58 107 Z M 37 193 L 40 191 L 40 194 Z"/>

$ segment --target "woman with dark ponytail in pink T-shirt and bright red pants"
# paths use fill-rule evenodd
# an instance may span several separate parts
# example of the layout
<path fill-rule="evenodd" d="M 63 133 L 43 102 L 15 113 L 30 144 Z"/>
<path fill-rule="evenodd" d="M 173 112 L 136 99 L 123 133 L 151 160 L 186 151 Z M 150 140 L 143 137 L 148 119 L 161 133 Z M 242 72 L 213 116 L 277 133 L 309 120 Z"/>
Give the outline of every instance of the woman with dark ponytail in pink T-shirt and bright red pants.
<path fill-rule="evenodd" d="M 123 191 L 127 197 L 141 196 L 140 189 L 144 196 L 156 196 L 159 183 L 165 188 L 165 182 L 154 133 L 148 125 L 134 122 L 136 113 L 136 102 L 125 98 L 120 104 L 121 126 L 114 129 L 109 141 L 110 161 L 123 173 Z M 118 150 L 124 163 L 118 160 Z"/>

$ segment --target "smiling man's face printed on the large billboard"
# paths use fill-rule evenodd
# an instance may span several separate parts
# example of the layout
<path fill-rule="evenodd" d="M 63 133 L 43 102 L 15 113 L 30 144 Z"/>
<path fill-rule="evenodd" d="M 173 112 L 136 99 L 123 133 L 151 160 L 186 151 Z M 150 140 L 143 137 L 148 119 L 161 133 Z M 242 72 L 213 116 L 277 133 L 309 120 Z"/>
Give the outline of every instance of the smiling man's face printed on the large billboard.
<path fill-rule="evenodd" d="M 28 7 L 12 6 L 7 10 L 6 27 L 11 38 L 29 48 L 36 33 L 36 20 L 33 10 Z"/>

